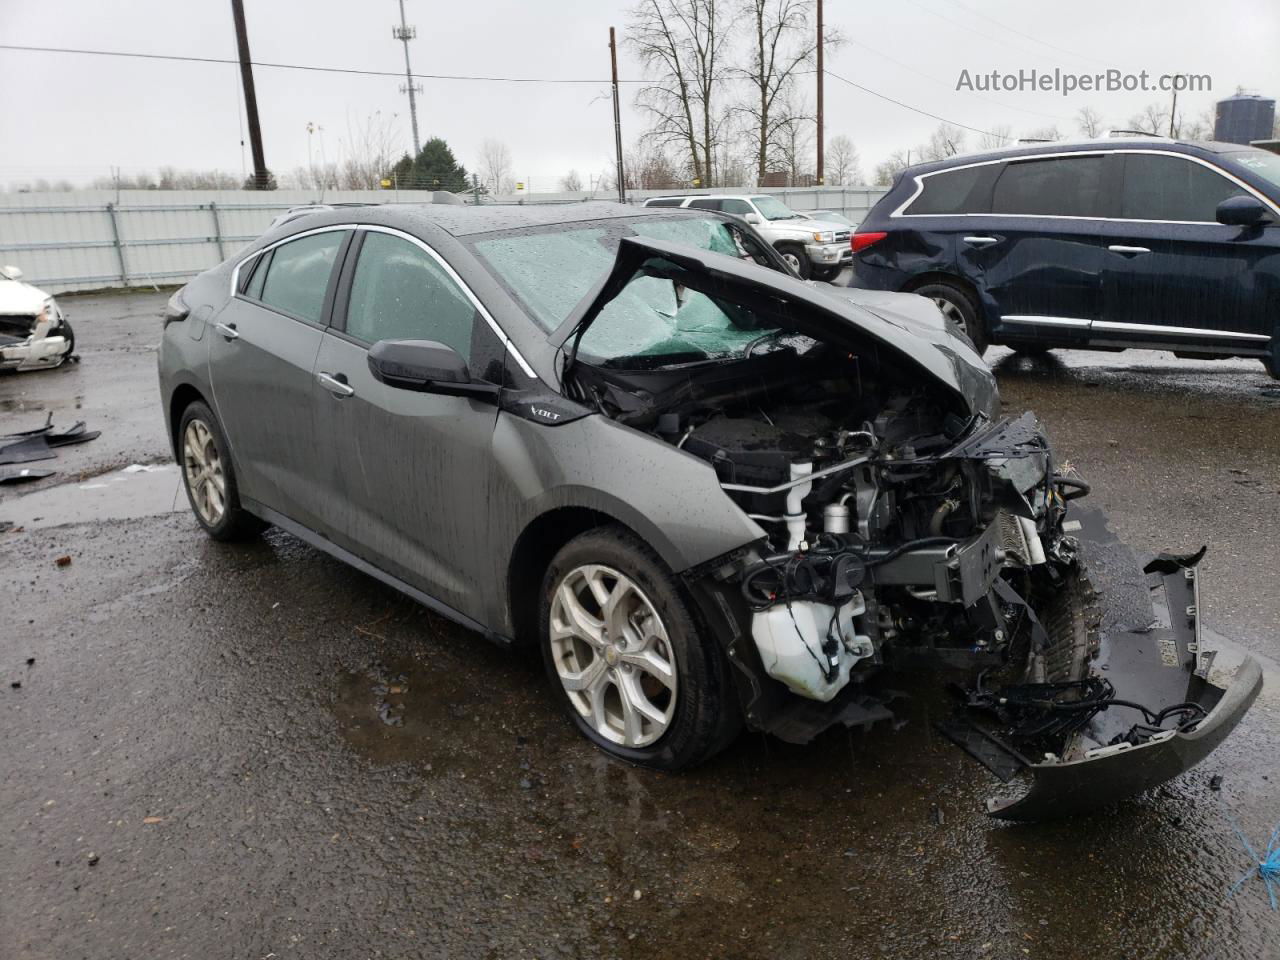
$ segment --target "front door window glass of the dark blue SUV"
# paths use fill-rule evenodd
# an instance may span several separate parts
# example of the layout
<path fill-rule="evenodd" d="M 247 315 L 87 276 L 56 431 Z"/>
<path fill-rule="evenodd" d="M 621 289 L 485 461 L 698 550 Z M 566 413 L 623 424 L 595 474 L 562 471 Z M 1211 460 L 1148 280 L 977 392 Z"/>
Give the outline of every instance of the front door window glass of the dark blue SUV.
<path fill-rule="evenodd" d="M 1129 154 L 1120 216 L 1215 223 L 1217 205 L 1244 192 L 1221 174 L 1180 156 Z"/>

